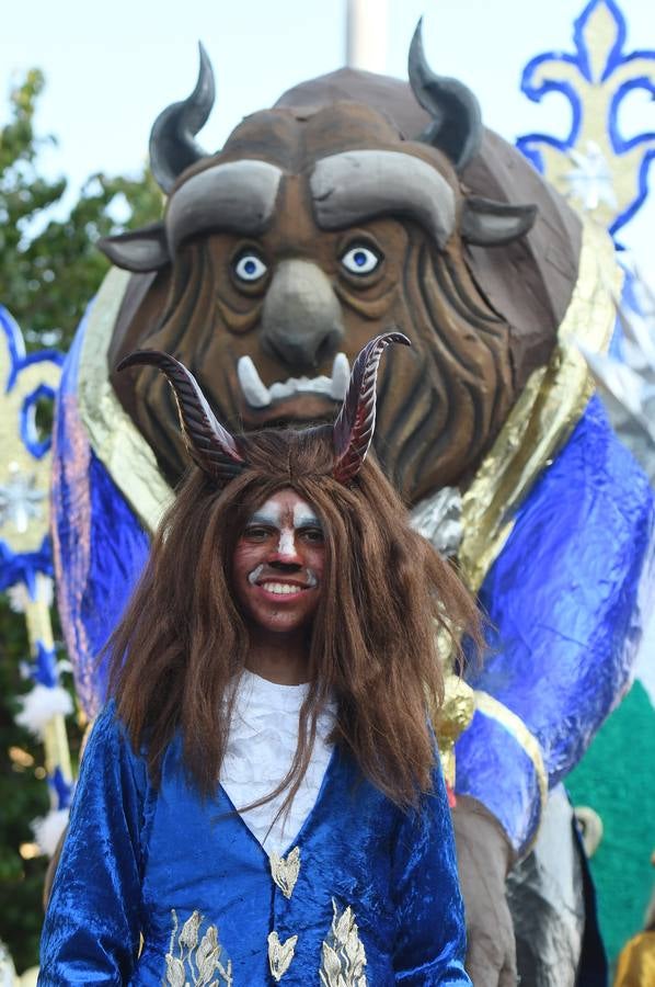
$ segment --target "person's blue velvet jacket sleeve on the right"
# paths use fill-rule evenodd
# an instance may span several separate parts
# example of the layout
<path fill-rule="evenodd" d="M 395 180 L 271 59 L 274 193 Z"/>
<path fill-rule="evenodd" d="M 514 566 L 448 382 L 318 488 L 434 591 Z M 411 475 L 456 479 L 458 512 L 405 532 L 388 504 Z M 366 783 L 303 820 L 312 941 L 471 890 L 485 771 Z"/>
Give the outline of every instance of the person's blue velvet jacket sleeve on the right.
<path fill-rule="evenodd" d="M 438 759 L 437 759 L 438 761 Z M 391 878 L 397 914 L 395 983 L 471 987 L 450 807 L 439 763 L 434 792 L 404 816 Z"/>

